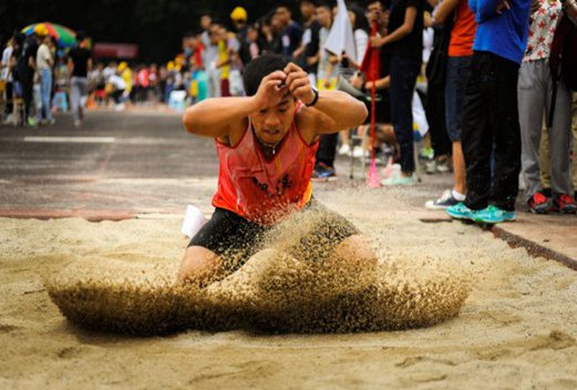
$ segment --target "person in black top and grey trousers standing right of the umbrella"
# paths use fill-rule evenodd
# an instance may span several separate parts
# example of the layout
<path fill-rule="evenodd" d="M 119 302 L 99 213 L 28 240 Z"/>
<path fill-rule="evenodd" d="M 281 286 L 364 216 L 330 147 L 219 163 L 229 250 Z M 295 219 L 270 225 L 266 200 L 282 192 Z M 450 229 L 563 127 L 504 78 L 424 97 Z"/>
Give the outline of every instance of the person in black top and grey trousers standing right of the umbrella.
<path fill-rule="evenodd" d="M 76 33 L 76 44 L 69 52 L 69 66 L 72 68 L 72 78 L 70 80 L 70 101 L 72 105 L 72 115 L 74 117 L 74 126 L 80 129 L 84 114 L 86 95 L 89 92 L 89 72 L 92 70 L 92 53 L 84 48 L 84 33 Z"/>

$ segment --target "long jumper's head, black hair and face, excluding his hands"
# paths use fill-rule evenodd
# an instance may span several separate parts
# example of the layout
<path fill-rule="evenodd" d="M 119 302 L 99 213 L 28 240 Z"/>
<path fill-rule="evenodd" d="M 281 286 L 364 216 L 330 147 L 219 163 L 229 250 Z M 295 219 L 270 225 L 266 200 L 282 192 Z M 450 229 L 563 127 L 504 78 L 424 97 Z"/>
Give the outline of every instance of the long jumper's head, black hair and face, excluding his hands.
<path fill-rule="evenodd" d="M 250 61 L 244 74 L 247 95 L 255 95 L 265 76 L 276 71 L 284 71 L 288 63 L 286 58 L 277 54 L 265 54 Z M 267 144 L 276 145 L 282 141 L 295 119 L 297 100 L 287 89 L 284 91 L 286 92 L 277 105 L 250 115 L 258 138 Z"/>

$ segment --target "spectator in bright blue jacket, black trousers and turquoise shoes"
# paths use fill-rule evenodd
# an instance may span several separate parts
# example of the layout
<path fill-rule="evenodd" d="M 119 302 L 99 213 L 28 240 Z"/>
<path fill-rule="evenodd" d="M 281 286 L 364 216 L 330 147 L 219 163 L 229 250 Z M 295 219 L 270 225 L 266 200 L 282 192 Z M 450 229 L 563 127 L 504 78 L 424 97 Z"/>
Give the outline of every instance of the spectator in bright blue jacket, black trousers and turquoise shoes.
<path fill-rule="evenodd" d="M 466 199 L 454 218 L 496 224 L 515 219 L 521 171 L 517 76 L 527 44 L 530 0 L 470 0 L 477 31 L 465 89 L 462 143 Z M 494 155 L 494 174 L 491 160 Z"/>

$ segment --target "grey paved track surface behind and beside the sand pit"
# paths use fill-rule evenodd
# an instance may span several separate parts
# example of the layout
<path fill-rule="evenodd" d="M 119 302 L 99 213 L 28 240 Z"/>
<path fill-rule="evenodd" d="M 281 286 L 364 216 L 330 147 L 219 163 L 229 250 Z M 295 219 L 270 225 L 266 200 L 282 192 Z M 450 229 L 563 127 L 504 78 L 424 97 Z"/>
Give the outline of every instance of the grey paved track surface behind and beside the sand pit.
<path fill-rule="evenodd" d="M 154 110 L 89 112 L 81 130 L 69 115 L 50 127 L 0 126 L 0 216 L 123 219 L 157 214 L 183 215 L 187 204 L 210 213 L 206 199 L 218 171 L 213 141 L 188 135 L 181 116 Z M 337 164 L 333 183 L 316 184 L 316 193 L 364 186 L 357 165 L 349 178 L 349 161 Z M 443 213 L 423 213 L 422 205 L 449 187 L 450 175 L 423 177 L 409 191 L 393 191 L 431 222 Z M 538 255 L 577 267 L 577 217 L 534 216 L 523 211 L 518 222 L 504 224 L 496 235 Z"/>

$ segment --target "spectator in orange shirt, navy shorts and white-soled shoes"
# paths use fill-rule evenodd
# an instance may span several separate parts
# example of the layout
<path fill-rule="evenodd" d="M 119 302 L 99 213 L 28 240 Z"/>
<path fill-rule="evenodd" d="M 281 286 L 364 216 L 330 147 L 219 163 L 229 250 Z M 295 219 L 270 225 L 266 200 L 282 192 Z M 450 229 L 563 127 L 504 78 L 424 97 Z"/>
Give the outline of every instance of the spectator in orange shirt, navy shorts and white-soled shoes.
<path fill-rule="evenodd" d="M 468 8 L 467 0 L 444 0 L 434 13 L 437 22 L 443 23 L 454 11 L 454 22 L 449 42 L 449 59 L 445 76 L 446 131 L 453 144 L 453 188 L 436 201 L 427 203 L 427 208 L 439 209 L 454 206 L 465 201 L 465 156 L 461 144 L 463 124 L 463 102 L 465 85 L 473 57 L 473 42 L 477 23 Z"/>

